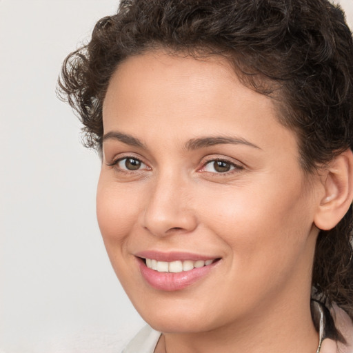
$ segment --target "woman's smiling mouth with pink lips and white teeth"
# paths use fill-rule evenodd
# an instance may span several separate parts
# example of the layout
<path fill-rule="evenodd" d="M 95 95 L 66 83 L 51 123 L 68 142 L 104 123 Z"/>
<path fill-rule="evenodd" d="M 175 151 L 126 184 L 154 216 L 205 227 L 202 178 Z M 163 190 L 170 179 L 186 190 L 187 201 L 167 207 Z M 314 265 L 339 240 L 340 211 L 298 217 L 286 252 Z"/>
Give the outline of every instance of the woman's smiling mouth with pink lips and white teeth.
<path fill-rule="evenodd" d="M 150 287 L 167 292 L 183 290 L 205 279 L 221 262 L 221 258 L 201 259 L 200 256 L 187 254 L 179 256 L 179 259 L 178 254 L 150 255 L 152 256 L 135 255 L 140 273 Z M 185 259 L 187 256 L 189 259 Z"/>

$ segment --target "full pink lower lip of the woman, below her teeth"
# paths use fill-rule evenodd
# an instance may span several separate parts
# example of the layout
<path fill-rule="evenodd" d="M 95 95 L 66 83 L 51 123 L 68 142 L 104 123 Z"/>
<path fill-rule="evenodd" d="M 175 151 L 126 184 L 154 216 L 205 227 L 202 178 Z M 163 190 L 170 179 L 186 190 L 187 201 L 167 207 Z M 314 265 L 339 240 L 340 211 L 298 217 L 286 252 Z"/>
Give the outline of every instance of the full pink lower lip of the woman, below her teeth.
<path fill-rule="evenodd" d="M 196 281 L 203 279 L 210 271 L 214 268 L 215 261 L 211 265 L 203 266 L 202 268 L 194 268 L 190 271 L 183 272 L 158 272 L 148 268 L 145 262 L 141 259 L 139 260 L 139 267 L 141 274 L 145 281 L 153 288 L 157 290 L 164 290 L 167 292 L 172 292 L 175 290 L 183 290 L 184 288 L 192 285 Z"/>

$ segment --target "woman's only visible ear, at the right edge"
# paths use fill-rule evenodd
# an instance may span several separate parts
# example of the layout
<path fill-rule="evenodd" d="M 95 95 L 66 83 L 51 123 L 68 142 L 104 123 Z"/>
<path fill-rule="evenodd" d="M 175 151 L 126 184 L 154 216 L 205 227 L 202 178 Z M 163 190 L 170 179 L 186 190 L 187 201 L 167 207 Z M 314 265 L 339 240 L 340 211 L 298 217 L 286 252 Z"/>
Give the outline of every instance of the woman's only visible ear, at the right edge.
<path fill-rule="evenodd" d="M 353 153 L 346 150 L 335 157 L 323 176 L 321 202 L 314 216 L 314 224 L 320 230 L 334 228 L 353 200 Z"/>

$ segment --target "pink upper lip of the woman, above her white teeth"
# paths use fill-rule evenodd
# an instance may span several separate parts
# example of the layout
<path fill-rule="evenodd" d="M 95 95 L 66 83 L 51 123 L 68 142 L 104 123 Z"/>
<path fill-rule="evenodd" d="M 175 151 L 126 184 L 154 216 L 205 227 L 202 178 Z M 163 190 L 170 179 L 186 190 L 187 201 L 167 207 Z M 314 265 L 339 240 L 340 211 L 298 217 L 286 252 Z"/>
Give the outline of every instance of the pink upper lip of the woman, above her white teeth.
<path fill-rule="evenodd" d="M 198 261 L 198 260 L 214 260 L 219 259 L 219 256 L 209 256 L 202 254 L 194 254 L 192 252 L 160 252 L 157 250 L 145 250 L 137 252 L 134 256 L 141 257 L 142 259 L 152 259 L 157 261 Z"/>

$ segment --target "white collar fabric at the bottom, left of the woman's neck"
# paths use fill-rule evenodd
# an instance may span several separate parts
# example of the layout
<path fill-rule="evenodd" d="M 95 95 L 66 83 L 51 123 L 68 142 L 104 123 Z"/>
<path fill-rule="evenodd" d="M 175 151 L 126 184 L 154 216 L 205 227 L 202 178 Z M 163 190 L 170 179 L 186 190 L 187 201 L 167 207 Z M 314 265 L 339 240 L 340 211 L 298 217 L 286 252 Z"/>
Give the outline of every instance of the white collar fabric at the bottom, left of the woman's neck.
<path fill-rule="evenodd" d="M 145 325 L 121 353 L 153 353 L 160 336 L 161 332 Z"/>

